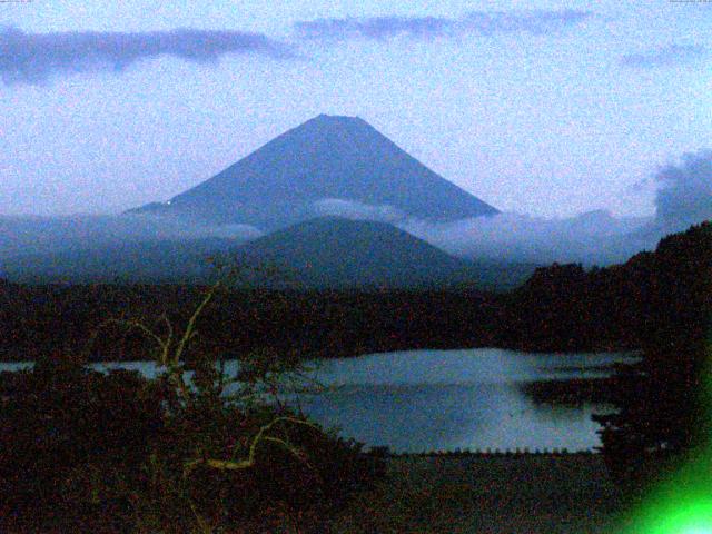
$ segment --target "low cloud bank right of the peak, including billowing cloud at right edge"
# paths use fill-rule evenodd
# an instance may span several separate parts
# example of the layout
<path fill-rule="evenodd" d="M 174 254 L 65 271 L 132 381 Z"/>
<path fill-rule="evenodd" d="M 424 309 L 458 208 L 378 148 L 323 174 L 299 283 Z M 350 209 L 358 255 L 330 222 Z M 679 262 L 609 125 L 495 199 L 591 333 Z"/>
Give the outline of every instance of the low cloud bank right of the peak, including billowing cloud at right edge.
<path fill-rule="evenodd" d="M 595 210 L 547 219 L 503 212 L 449 222 L 412 217 L 393 206 L 329 198 L 315 202 L 319 215 L 389 222 L 459 257 L 551 264 L 622 263 L 652 250 L 664 236 L 712 219 L 712 149 L 682 156 L 646 181 L 659 186 L 651 217 L 614 217 Z"/>

